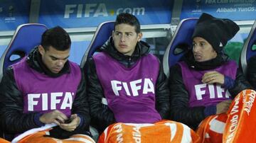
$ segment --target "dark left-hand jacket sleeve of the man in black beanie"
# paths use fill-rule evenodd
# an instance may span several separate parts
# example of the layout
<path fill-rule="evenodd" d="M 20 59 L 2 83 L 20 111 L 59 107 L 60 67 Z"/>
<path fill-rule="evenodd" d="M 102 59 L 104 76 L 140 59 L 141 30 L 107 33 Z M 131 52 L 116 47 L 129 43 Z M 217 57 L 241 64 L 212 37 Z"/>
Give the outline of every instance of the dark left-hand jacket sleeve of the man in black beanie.
<path fill-rule="evenodd" d="M 189 95 L 183 84 L 181 67 L 178 64 L 170 70 L 169 77 L 171 95 L 171 120 L 182 122 L 192 129 L 196 129 L 199 123 L 206 118 L 204 115 L 205 107 L 188 107 Z"/>

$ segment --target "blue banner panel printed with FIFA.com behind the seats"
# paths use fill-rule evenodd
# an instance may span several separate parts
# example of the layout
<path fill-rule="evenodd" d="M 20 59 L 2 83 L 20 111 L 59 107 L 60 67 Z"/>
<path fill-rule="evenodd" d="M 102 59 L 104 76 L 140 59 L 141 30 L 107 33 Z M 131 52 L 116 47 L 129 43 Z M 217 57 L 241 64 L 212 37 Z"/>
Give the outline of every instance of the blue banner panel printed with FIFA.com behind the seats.
<path fill-rule="evenodd" d="M 105 21 L 114 21 L 118 13 L 132 13 L 141 24 L 171 23 L 173 2 L 170 0 L 43 0 L 39 12 L 39 23 L 49 28 L 95 27 Z"/>

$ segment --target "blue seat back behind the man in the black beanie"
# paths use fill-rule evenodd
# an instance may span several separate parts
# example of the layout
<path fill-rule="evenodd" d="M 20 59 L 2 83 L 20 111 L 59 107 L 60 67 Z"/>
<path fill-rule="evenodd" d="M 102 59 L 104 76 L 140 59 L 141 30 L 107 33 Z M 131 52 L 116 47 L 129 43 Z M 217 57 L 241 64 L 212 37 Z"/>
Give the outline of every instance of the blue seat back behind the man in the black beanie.
<path fill-rule="evenodd" d="M 183 19 L 175 30 L 166 51 L 164 52 L 164 73 L 169 77 L 169 68 L 174 66 L 184 55 L 188 48 L 192 47 L 192 35 L 198 18 Z"/>

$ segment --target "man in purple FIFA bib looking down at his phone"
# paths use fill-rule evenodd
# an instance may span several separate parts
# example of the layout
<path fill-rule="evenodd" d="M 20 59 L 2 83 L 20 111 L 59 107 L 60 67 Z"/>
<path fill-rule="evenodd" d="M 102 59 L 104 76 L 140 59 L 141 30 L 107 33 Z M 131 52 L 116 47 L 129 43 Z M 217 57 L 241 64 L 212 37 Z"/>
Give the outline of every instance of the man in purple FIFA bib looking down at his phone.
<path fill-rule="evenodd" d="M 68 61 L 70 45 L 63 28 L 50 28 L 43 33 L 41 45 L 4 72 L 1 130 L 19 135 L 54 123 L 57 126 L 52 130 L 21 138 L 21 142 L 55 142 L 76 134 L 90 139 L 86 136 L 90 135 L 90 115 L 85 79 L 78 64 Z"/>

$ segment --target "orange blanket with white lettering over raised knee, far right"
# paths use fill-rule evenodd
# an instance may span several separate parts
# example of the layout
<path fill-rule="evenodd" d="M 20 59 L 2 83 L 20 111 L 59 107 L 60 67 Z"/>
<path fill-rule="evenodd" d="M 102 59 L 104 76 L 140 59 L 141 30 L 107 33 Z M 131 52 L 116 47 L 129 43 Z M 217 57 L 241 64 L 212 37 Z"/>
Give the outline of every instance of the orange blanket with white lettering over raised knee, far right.
<path fill-rule="evenodd" d="M 245 90 L 235 97 L 225 125 L 223 142 L 256 142 L 256 91 Z"/>

